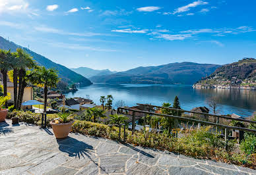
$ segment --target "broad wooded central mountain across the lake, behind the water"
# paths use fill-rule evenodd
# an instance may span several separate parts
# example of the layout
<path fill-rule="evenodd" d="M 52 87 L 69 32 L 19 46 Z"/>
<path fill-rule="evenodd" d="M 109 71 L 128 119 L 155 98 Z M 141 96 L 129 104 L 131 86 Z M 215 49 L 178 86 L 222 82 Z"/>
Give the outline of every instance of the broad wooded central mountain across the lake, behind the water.
<path fill-rule="evenodd" d="M 138 67 L 124 72 L 90 78 L 96 83 L 112 84 L 194 84 L 220 65 L 190 62 Z"/>

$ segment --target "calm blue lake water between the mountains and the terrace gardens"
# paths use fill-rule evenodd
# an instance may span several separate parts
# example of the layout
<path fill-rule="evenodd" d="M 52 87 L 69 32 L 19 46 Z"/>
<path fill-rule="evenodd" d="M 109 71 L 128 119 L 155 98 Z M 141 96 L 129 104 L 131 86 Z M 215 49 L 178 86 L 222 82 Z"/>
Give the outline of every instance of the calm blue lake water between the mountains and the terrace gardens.
<path fill-rule="evenodd" d="M 209 97 L 218 97 L 220 100 L 219 114 L 236 113 L 240 116 L 251 116 L 256 111 L 256 91 L 235 89 L 193 89 L 183 85 L 145 85 L 145 84 L 92 84 L 79 88 L 75 93 L 66 94 L 67 97 L 86 97 L 100 105 L 100 96 L 113 95 L 113 105 L 123 100 L 128 106 L 136 103 L 150 103 L 162 105 L 164 102 L 173 103 L 177 95 L 181 108 L 191 110 L 194 107 L 208 107 Z"/>

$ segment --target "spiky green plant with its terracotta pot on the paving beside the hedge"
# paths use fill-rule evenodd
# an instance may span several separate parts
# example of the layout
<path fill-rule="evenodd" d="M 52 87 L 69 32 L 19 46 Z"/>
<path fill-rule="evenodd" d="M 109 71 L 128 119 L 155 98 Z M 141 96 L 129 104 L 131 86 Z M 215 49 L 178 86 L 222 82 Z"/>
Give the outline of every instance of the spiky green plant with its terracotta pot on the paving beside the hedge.
<path fill-rule="evenodd" d="M 59 118 L 54 119 L 49 124 L 53 128 L 53 133 L 57 139 L 62 139 L 69 136 L 71 131 L 73 119 L 72 114 L 67 112 L 59 113 Z"/>

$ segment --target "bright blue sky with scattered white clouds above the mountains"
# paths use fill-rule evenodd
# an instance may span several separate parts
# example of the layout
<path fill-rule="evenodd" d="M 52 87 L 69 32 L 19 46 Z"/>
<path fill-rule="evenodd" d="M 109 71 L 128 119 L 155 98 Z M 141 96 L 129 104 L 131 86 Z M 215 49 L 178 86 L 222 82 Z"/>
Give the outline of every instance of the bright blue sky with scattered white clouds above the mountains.
<path fill-rule="evenodd" d="M 256 1 L 0 0 L 0 36 L 69 68 L 256 57 Z"/>

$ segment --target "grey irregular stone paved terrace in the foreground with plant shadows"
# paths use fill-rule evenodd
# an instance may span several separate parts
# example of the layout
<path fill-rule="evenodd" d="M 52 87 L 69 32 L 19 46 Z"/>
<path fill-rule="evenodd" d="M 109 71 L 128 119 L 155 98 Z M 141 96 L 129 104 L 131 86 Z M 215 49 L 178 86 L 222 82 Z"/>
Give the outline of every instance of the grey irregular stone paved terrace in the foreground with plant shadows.
<path fill-rule="evenodd" d="M 256 174 L 233 164 L 123 145 L 109 139 L 0 123 L 0 174 Z"/>

